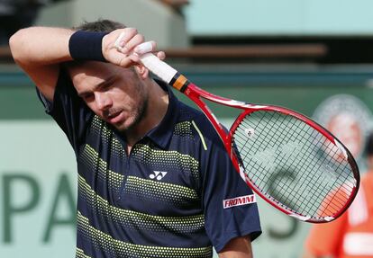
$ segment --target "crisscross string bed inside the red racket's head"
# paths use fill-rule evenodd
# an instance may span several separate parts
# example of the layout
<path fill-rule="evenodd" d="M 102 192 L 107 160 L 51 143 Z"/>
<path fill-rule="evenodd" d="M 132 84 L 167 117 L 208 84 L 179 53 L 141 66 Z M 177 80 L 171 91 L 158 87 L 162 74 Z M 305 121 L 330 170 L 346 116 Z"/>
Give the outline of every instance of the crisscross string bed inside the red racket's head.
<path fill-rule="evenodd" d="M 305 121 L 255 111 L 233 132 L 250 182 L 285 209 L 312 218 L 341 210 L 355 187 L 341 149 Z"/>

